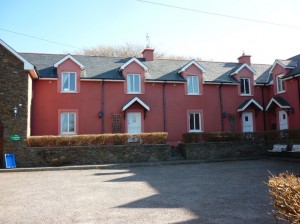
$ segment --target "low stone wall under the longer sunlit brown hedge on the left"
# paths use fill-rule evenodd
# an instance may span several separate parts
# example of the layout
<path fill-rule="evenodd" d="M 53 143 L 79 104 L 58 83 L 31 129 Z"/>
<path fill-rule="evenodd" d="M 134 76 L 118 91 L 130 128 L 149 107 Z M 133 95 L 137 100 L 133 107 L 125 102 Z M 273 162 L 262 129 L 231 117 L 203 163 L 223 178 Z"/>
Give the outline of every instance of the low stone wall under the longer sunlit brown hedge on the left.
<path fill-rule="evenodd" d="M 171 147 L 162 145 L 103 145 L 30 147 L 26 167 L 166 161 Z M 19 158 L 16 157 L 16 160 Z"/>

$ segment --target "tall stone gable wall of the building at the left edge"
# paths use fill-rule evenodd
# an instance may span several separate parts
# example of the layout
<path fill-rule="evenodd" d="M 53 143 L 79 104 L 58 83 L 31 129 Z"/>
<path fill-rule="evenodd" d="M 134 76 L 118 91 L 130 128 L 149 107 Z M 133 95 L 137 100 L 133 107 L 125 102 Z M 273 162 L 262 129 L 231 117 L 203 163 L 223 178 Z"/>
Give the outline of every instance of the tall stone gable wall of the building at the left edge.
<path fill-rule="evenodd" d="M 22 166 L 27 157 L 29 79 L 23 62 L 0 45 L 0 121 L 4 129 L 2 153 L 14 153 L 18 157 L 18 166 Z M 18 107 L 16 117 L 13 114 L 15 106 Z M 9 137 L 13 134 L 20 135 L 21 140 L 11 141 Z M 1 160 L 0 167 L 3 166 Z"/>

